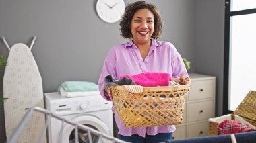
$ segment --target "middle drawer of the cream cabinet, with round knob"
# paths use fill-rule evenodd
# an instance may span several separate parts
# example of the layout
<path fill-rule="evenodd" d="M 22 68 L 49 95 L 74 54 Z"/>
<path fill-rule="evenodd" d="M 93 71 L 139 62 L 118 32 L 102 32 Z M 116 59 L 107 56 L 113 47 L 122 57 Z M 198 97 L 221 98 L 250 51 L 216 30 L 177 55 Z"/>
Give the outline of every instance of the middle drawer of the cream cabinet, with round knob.
<path fill-rule="evenodd" d="M 187 122 L 214 117 L 214 100 L 187 103 Z"/>

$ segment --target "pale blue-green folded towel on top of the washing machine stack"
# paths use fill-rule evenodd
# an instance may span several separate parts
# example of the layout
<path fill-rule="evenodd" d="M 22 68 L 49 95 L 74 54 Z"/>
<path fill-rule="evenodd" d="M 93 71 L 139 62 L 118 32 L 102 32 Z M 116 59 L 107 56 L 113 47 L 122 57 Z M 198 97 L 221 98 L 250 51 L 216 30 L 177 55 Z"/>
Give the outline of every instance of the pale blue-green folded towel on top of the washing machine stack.
<path fill-rule="evenodd" d="M 98 91 L 98 85 L 88 81 L 65 81 L 61 83 L 64 91 L 75 92 L 75 91 Z"/>

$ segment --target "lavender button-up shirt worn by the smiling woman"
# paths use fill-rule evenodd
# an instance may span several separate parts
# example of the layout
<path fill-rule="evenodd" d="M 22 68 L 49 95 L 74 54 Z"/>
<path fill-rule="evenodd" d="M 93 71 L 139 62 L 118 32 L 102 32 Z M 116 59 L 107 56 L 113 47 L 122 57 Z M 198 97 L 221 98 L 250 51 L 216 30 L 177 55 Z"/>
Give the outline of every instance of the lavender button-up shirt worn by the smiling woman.
<path fill-rule="evenodd" d="M 121 75 L 136 75 L 144 72 L 170 73 L 171 77 L 188 75 L 181 55 L 170 42 L 151 39 L 150 52 L 143 60 L 139 48 L 132 41 L 129 41 L 126 44 L 114 46 L 108 52 L 98 81 L 100 94 L 104 99 L 110 101 L 108 94 L 104 92 L 103 85 L 107 75 L 113 75 L 115 79 L 119 79 Z M 114 108 L 113 113 L 115 113 Z M 146 132 L 148 135 L 155 135 L 174 132 L 176 129 L 174 125 L 127 128 L 117 115 L 115 115 L 115 121 L 119 128 L 119 134 L 123 136 L 138 134 L 145 137 Z"/>

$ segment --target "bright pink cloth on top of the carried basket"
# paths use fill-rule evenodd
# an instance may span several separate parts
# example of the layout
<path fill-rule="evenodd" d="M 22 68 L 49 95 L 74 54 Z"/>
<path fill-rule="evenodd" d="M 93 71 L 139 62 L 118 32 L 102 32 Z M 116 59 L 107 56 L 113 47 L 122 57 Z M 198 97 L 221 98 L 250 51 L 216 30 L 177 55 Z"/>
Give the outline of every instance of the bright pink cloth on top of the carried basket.
<path fill-rule="evenodd" d="M 127 77 L 132 79 L 137 85 L 144 87 L 168 86 L 171 81 L 169 73 L 146 72 L 137 75 L 122 75 L 120 79 Z"/>

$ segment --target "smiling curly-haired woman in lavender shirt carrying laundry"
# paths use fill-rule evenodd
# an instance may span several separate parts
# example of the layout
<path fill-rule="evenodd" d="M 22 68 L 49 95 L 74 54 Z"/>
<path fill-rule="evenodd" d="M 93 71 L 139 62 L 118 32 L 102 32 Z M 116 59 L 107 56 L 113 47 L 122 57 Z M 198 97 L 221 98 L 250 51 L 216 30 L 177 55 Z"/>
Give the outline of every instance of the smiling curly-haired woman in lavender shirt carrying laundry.
<path fill-rule="evenodd" d="M 170 73 L 180 81 L 189 81 L 187 70 L 176 48 L 170 42 L 157 40 L 162 33 L 162 19 L 153 4 L 137 1 L 127 5 L 120 22 L 121 36 L 130 41 L 114 46 L 105 59 L 98 81 L 100 93 L 110 101 L 109 90 L 104 89 L 104 77 L 136 75 L 144 72 Z M 115 113 L 115 109 L 113 109 Z M 164 142 L 172 139 L 174 125 L 127 128 L 115 115 L 119 138 L 127 142 Z"/>

